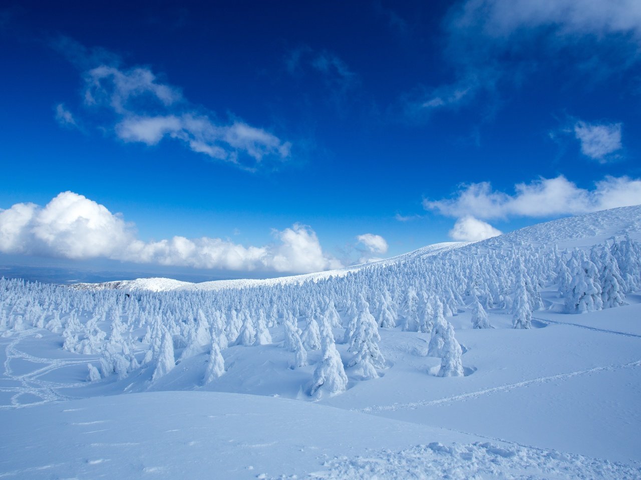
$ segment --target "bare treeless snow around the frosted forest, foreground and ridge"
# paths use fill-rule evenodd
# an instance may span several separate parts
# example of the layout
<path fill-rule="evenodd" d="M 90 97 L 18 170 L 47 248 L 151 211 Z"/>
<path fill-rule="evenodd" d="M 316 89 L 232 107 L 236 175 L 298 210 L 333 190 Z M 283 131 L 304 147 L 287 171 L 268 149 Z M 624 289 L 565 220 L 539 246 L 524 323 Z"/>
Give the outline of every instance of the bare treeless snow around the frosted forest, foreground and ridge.
<path fill-rule="evenodd" d="M 513 244 L 585 248 L 640 232 L 641 207 L 629 207 L 385 262 Z M 346 273 L 307 277 L 319 275 Z M 153 290 L 221 288 L 149 282 Z M 224 288 L 248 286 L 242 282 Z M 460 305 L 448 317 L 463 346 L 460 378 L 435 376 L 440 360 L 425 356 L 429 335 L 381 328 L 381 378 L 359 381 L 346 369 L 347 391 L 320 401 L 306 392 L 320 352 L 288 368 L 281 326 L 270 329 L 272 344 L 225 349 L 226 373 L 204 387 L 206 352 L 155 383 L 153 366 L 89 382 L 87 364 L 99 355 L 64 351 L 60 333 L 42 328 L 6 333 L 0 478 L 641 478 L 641 295 L 581 315 L 558 313 L 554 287 L 542 298 L 531 330 L 512 329 L 499 308 L 488 310 L 495 328 L 472 330 L 470 308 Z M 347 346 L 337 348 L 345 362 Z"/>

